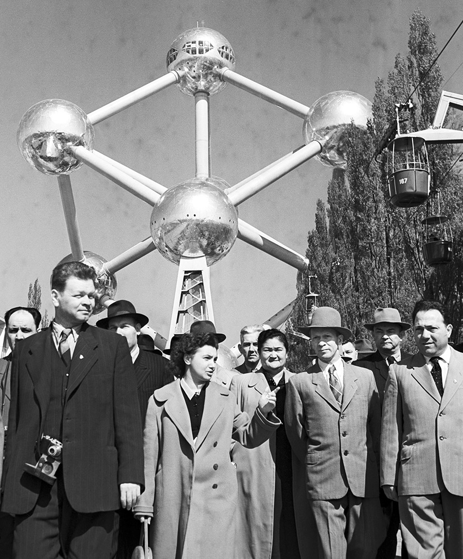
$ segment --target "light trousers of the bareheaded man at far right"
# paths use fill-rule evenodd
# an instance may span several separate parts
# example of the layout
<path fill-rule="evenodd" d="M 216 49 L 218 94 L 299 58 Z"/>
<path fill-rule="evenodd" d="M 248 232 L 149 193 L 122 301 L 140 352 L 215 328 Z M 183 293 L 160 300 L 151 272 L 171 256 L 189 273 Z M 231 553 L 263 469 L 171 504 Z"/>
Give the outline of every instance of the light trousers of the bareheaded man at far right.
<path fill-rule="evenodd" d="M 461 559 L 463 497 L 447 490 L 399 496 L 402 536 L 410 559 Z"/>

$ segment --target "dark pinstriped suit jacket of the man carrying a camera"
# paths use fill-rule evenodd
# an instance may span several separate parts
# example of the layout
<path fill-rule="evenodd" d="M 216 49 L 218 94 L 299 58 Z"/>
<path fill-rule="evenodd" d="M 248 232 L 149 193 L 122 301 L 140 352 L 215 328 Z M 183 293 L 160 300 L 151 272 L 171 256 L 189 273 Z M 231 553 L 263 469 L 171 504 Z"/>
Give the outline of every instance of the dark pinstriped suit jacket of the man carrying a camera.
<path fill-rule="evenodd" d="M 16 344 L 3 472 L 2 511 L 28 513 L 40 479 L 23 471 L 37 462 L 37 438 L 50 400 L 51 326 Z M 127 340 L 82 325 L 64 399 L 62 475 L 72 508 L 81 513 L 119 508 L 119 485 L 144 485 L 141 418 Z M 44 433 L 46 434 L 46 433 Z"/>

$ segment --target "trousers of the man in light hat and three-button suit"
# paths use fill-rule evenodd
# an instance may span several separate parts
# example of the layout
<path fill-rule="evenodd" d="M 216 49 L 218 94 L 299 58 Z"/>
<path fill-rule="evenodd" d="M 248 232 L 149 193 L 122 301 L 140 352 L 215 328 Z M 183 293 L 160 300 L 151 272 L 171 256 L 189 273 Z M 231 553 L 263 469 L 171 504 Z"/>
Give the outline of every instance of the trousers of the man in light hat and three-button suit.
<path fill-rule="evenodd" d="M 309 500 L 318 530 L 319 559 L 374 559 L 386 535 L 379 498 Z"/>

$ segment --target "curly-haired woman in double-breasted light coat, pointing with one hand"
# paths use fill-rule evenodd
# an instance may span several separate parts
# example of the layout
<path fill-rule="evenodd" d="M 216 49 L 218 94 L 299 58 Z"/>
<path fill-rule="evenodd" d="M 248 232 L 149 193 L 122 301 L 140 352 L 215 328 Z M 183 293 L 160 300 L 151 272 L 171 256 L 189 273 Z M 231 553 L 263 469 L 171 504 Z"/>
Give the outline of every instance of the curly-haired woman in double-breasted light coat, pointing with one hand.
<path fill-rule="evenodd" d="M 228 389 L 210 382 L 217 361 L 214 334 L 184 334 L 172 354 L 176 381 L 156 390 L 145 422 L 145 492 L 136 517 L 154 517 L 154 555 L 169 559 L 232 559 L 237 474 L 230 440 L 262 444 L 281 425 L 276 395 L 262 394 L 242 413 Z"/>

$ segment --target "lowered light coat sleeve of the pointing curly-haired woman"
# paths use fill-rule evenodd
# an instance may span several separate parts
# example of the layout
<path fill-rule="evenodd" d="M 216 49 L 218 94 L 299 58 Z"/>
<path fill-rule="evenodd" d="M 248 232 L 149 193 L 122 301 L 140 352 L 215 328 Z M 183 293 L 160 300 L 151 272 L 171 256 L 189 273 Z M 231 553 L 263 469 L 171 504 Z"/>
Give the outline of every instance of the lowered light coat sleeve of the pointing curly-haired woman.
<path fill-rule="evenodd" d="M 145 454 L 145 491 L 140 495 L 134 513 L 144 516 L 153 516 L 155 493 L 155 476 L 159 458 L 159 432 L 157 423 L 157 406 L 154 397 L 148 401 L 147 418 L 144 430 Z"/>

